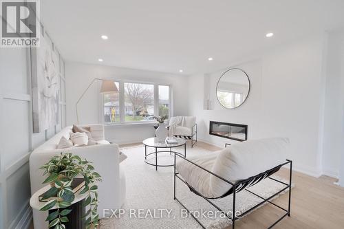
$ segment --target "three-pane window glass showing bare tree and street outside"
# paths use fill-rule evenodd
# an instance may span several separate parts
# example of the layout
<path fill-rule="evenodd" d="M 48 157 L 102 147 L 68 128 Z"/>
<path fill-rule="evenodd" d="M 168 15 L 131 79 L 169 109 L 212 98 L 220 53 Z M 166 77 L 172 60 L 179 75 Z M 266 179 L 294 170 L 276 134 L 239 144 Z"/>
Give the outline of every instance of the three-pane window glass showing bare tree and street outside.
<path fill-rule="evenodd" d="M 168 85 L 115 82 L 119 93 L 104 94 L 104 122 L 155 122 L 154 116 L 170 116 Z"/>

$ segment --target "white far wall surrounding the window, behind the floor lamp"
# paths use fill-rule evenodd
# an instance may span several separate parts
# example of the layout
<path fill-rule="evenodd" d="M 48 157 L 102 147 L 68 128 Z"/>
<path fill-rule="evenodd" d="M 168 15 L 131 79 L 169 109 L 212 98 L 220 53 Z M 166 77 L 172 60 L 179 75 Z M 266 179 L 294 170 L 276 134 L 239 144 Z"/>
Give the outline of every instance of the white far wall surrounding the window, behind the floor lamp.
<path fill-rule="evenodd" d="M 162 83 L 172 87 L 173 116 L 182 116 L 188 113 L 187 93 L 188 80 L 186 76 L 151 72 L 122 67 L 109 67 L 104 65 L 87 65 L 82 63 L 67 63 L 67 124 L 76 124 L 75 104 L 79 96 L 94 78 L 113 80 L 133 80 L 138 82 Z M 78 106 L 80 124 L 102 123 L 103 107 L 100 104 L 100 83 L 94 83 L 89 88 Z M 105 137 L 118 144 L 141 142 L 144 138 L 154 136 L 151 125 L 127 124 L 105 127 Z"/>

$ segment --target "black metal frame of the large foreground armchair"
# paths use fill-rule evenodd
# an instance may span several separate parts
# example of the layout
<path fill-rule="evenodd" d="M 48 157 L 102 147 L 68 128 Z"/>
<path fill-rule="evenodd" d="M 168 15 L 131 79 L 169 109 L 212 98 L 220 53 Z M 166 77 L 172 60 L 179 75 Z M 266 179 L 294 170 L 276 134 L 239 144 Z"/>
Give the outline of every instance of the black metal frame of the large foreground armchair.
<path fill-rule="evenodd" d="M 180 175 L 178 175 L 179 173 L 176 172 L 175 170 L 175 159 L 176 159 L 176 156 L 182 158 L 182 160 L 186 160 L 187 162 L 190 162 L 191 164 L 201 168 L 202 170 L 206 171 L 207 173 L 210 173 L 211 175 L 214 175 L 215 177 L 219 178 L 219 179 L 222 179 L 224 182 L 228 183 L 228 184 L 231 184 L 233 187 L 230 188 L 230 190 L 228 190 L 228 193 L 226 193 L 225 195 L 223 195 L 222 197 L 225 197 L 226 195 L 230 195 L 230 194 L 233 194 L 233 211 L 232 211 L 232 214 L 231 216 L 228 215 L 224 210 L 222 210 L 221 208 L 219 208 L 218 206 L 216 206 L 212 201 L 210 201 L 209 199 L 219 199 L 219 198 L 222 198 L 222 197 L 218 197 L 218 198 L 207 198 L 207 197 L 204 197 L 204 195 L 202 195 L 201 193 L 199 193 L 197 190 L 195 190 L 195 188 L 193 188 L 192 186 L 190 186 L 187 182 L 185 182 L 185 180 L 180 177 Z M 203 199 L 205 199 L 206 201 L 208 201 L 209 204 L 211 204 L 212 206 L 214 206 L 217 210 L 219 210 L 219 212 L 222 212 L 222 214 L 226 215 L 226 217 L 228 219 L 230 219 L 232 221 L 232 228 L 235 229 L 235 221 L 237 221 L 238 219 L 240 219 L 241 217 L 244 217 L 244 215 L 248 214 L 249 212 L 251 212 L 252 210 L 255 210 L 256 208 L 258 208 L 259 206 L 261 206 L 262 204 L 265 204 L 265 203 L 269 203 L 269 204 L 272 204 L 273 206 L 276 206 L 277 208 L 280 208 L 281 210 L 283 210 L 284 212 L 286 212 L 285 214 L 283 214 L 282 217 L 280 217 L 279 219 L 277 219 L 277 221 L 275 221 L 274 223 L 272 223 L 272 225 L 268 228 L 272 228 L 274 227 L 277 223 L 279 223 L 279 221 L 281 221 L 284 217 L 288 216 L 290 217 L 290 200 L 291 200 L 291 195 L 292 195 L 292 161 L 291 160 L 286 160 L 287 162 L 283 163 L 283 164 L 279 164 L 278 166 L 275 166 L 275 168 L 272 168 L 264 173 L 260 173 L 259 175 L 256 175 L 256 176 L 253 176 L 253 177 L 249 177 L 248 179 L 244 179 L 244 180 L 240 180 L 240 181 L 237 181 L 235 183 L 233 182 L 230 182 L 229 180 L 227 179 L 224 179 L 223 177 L 220 177 L 219 175 L 215 174 L 215 173 L 212 173 L 211 171 L 208 171 L 206 168 L 203 168 L 202 166 L 199 166 L 197 164 L 195 164 L 194 162 L 191 162 L 190 160 L 184 158 L 184 157 L 181 157 L 180 155 L 176 154 L 174 155 L 174 192 L 173 192 L 173 198 L 175 200 L 178 201 L 178 203 L 180 203 L 182 205 L 183 208 L 185 208 L 189 214 L 191 215 L 191 217 L 193 217 L 193 219 L 195 219 L 197 221 L 197 223 L 200 224 L 200 226 L 202 226 L 202 228 L 206 228 L 194 215 L 193 213 L 191 212 L 191 210 L 189 210 L 188 208 L 186 208 L 186 206 L 184 206 L 184 204 L 182 204 L 182 202 L 175 196 L 175 177 L 178 177 L 178 179 L 180 179 L 182 182 L 184 182 L 184 184 L 186 184 L 186 186 L 188 186 L 190 188 L 190 190 L 195 193 L 196 195 L 199 195 L 200 197 L 202 197 Z M 290 173 L 289 173 L 289 184 L 285 183 L 285 182 L 281 182 L 279 181 L 278 179 L 275 179 L 275 178 L 272 178 L 270 177 L 270 175 L 272 175 L 273 173 L 279 171 L 279 168 L 281 168 L 282 166 L 285 166 L 289 164 L 290 165 Z M 260 182 L 262 179 L 265 179 L 265 178 L 268 178 L 268 179 L 272 179 L 273 181 L 275 182 L 279 182 L 280 184 L 283 184 L 285 185 L 284 188 L 282 188 L 281 190 L 279 190 L 277 193 L 271 195 L 270 197 L 268 198 L 264 198 L 264 197 L 261 197 L 260 195 L 256 194 L 256 193 L 253 193 L 252 191 L 248 190 L 247 188 L 250 187 L 250 186 L 253 186 L 255 184 L 257 184 L 258 182 Z M 288 197 L 288 210 L 275 204 L 275 203 L 272 203 L 270 200 L 274 197 L 277 197 L 277 195 L 283 193 L 285 190 L 289 189 L 289 197 Z M 245 212 L 241 213 L 239 216 L 237 216 L 235 213 L 235 198 L 236 198 L 236 193 L 238 193 L 239 191 L 241 190 L 246 190 L 248 193 L 251 193 L 252 195 L 255 195 L 256 197 L 259 197 L 260 199 L 263 199 L 263 201 L 259 202 L 259 204 L 253 206 L 252 208 L 246 210 Z"/>

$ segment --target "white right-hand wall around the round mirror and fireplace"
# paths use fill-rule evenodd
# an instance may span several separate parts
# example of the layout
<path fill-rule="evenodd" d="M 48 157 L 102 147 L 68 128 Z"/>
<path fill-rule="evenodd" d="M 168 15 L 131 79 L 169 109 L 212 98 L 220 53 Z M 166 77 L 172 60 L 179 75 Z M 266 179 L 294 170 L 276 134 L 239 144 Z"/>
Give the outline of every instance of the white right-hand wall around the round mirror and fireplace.
<path fill-rule="evenodd" d="M 323 43 L 323 36 L 312 36 L 281 45 L 254 61 L 232 65 L 243 69 L 251 81 L 248 100 L 237 109 L 224 109 L 215 97 L 217 80 L 226 69 L 206 74 L 210 77 L 212 110 L 203 109 L 204 75 L 191 76 L 189 114 L 197 116 L 199 138 L 224 146 L 225 142 L 234 141 L 209 135 L 210 120 L 248 124 L 248 139 L 290 138 L 294 167 L 320 175 Z"/>

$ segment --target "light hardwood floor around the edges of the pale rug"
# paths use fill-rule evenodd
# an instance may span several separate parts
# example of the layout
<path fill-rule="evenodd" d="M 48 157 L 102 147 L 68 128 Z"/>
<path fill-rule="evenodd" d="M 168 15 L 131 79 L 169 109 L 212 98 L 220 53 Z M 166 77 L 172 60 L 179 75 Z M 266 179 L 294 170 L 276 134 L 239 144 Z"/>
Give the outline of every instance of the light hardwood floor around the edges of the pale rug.
<path fill-rule="evenodd" d="M 123 146 L 133 145 L 137 144 Z M 217 146 L 212 146 L 204 142 L 197 142 L 197 146 L 209 151 L 220 149 Z M 288 169 L 281 169 L 278 175 L 288 178 L 289 171 Z M 292 173 L 292 178 L 295 186 L 292 188 L 291 217 L 282 219 L 275 226 L 276 229 L 344 228 L 344 188 L 334 184 L 336 179 L 326 176 L 315 178 L 295 171 Z M 287 206 L 288 195 L 281 195 L 273 202 L 281 206 Z M 268 228 L 281 215 L 283 215 L 283 212 L 279 208 L 271 204 L 266 204 L 237 221 L 235 228 Z"/>

